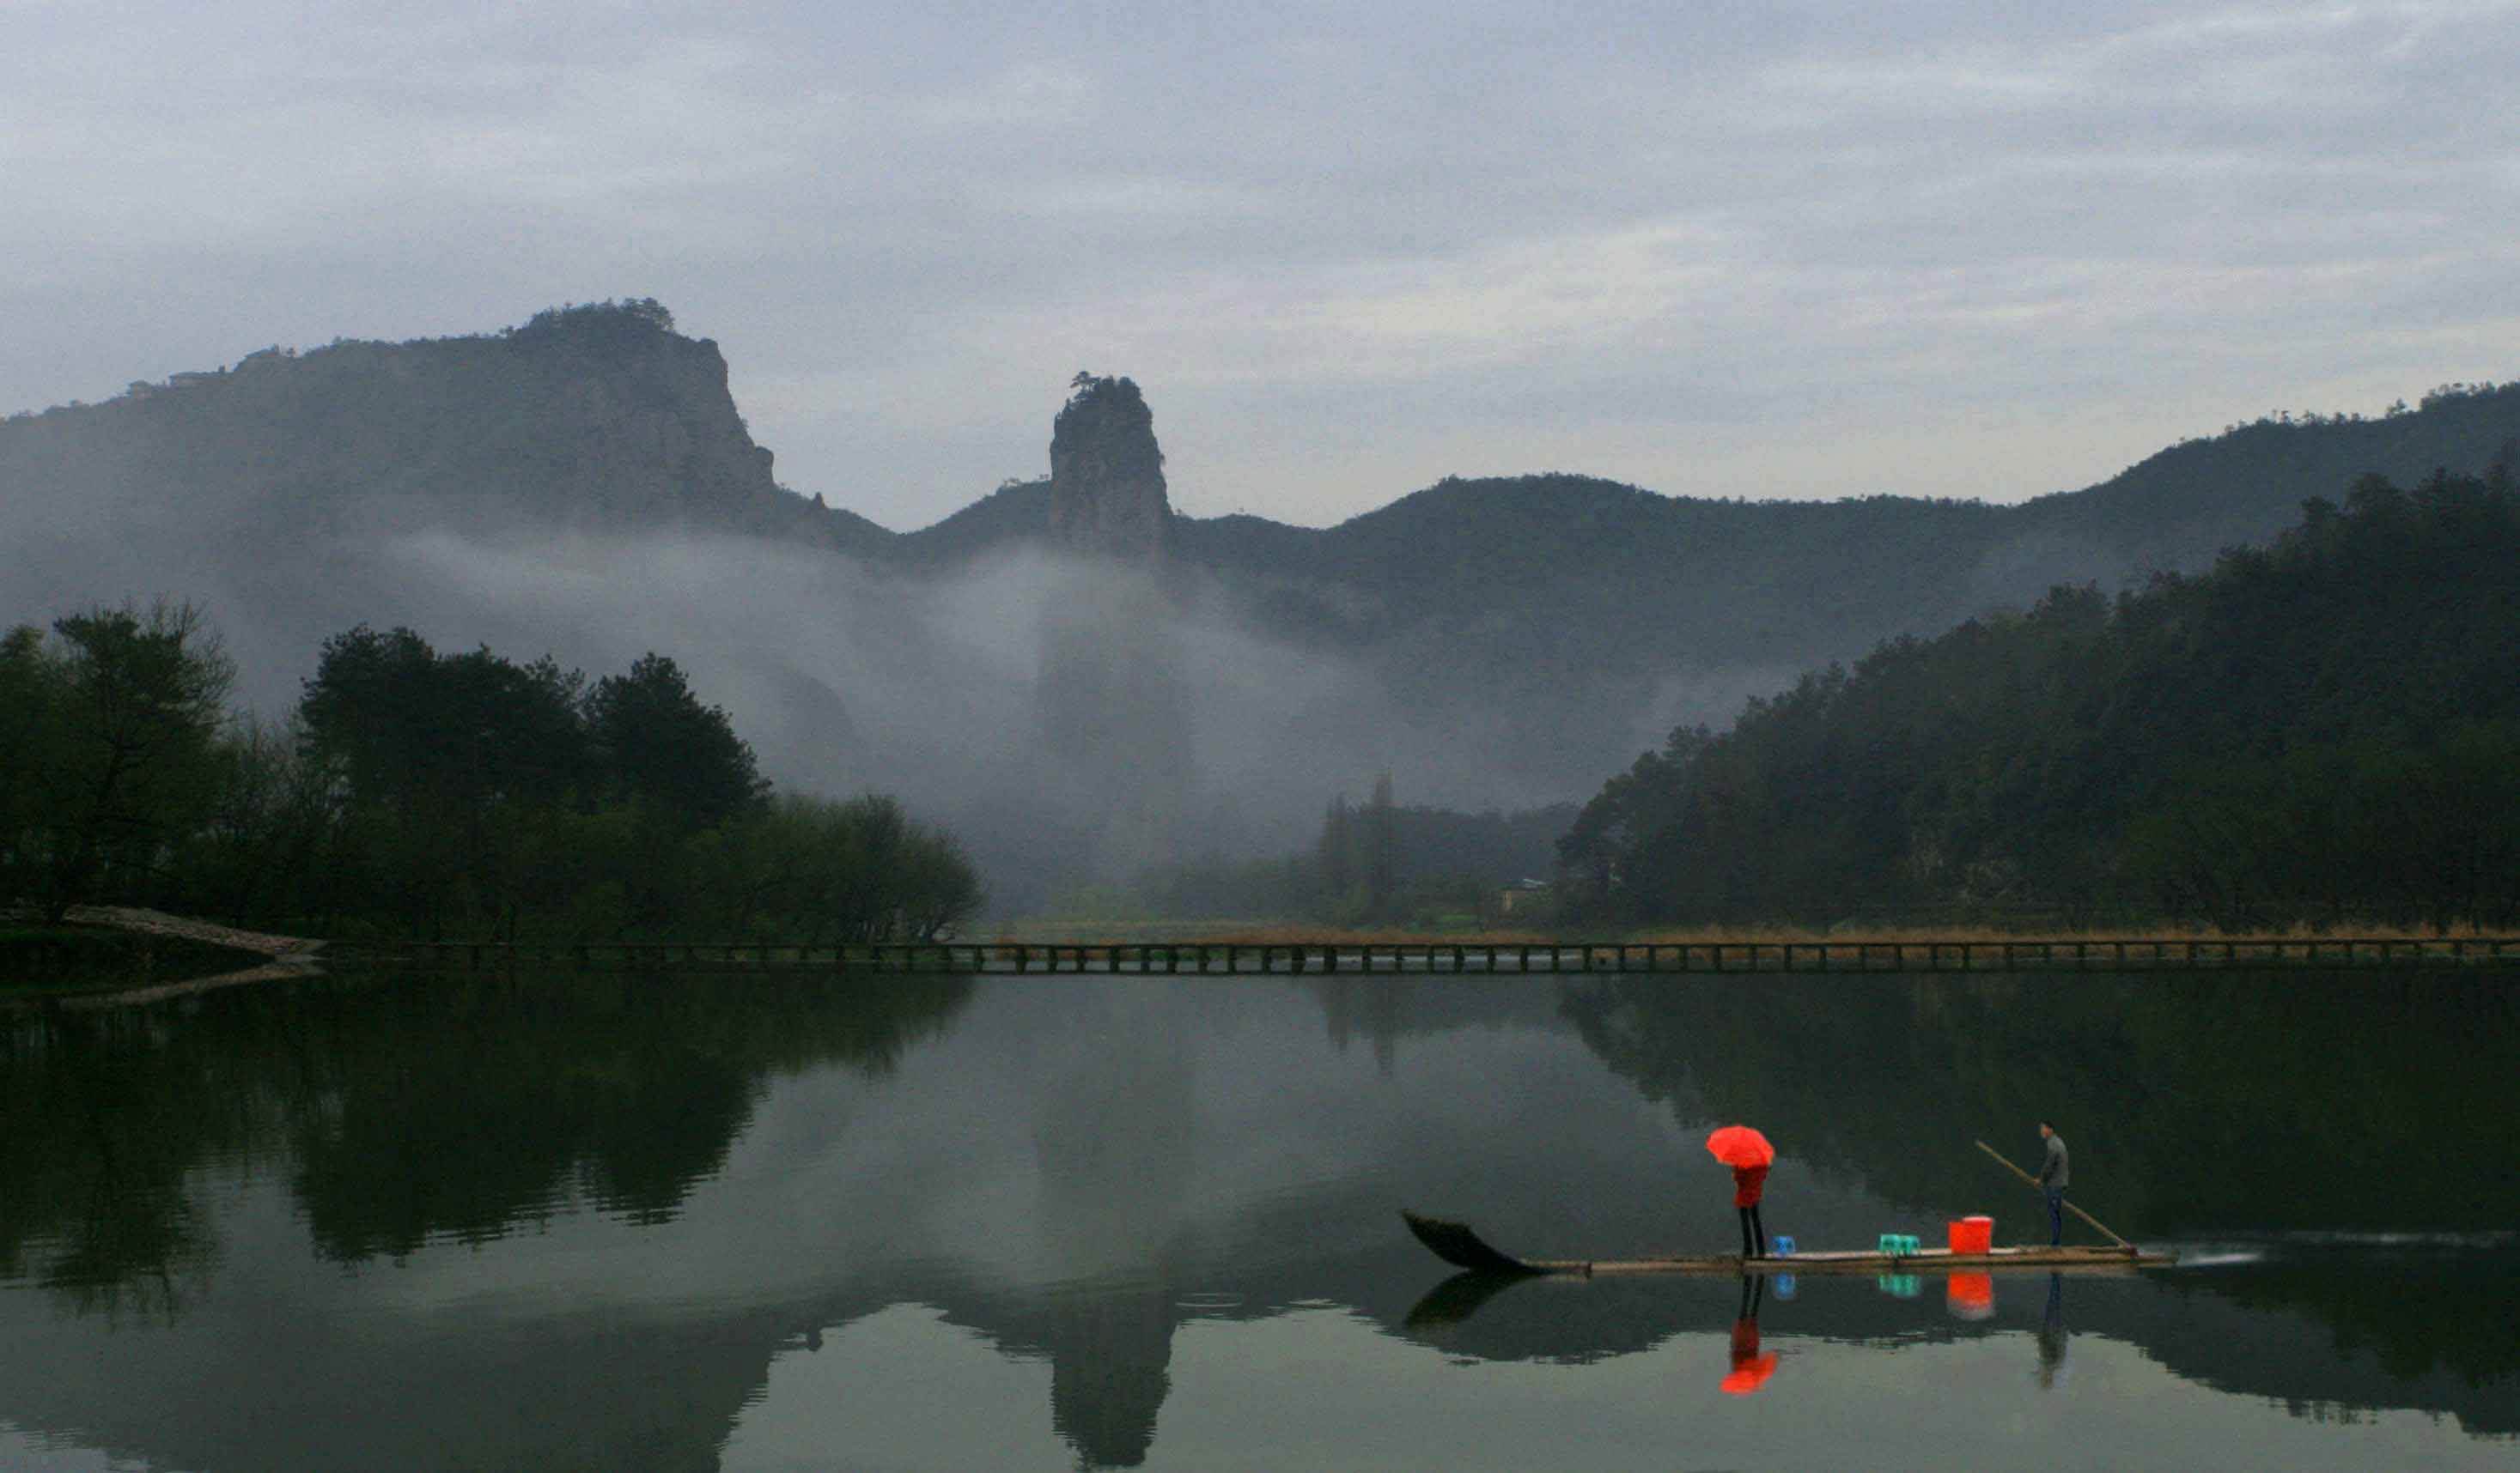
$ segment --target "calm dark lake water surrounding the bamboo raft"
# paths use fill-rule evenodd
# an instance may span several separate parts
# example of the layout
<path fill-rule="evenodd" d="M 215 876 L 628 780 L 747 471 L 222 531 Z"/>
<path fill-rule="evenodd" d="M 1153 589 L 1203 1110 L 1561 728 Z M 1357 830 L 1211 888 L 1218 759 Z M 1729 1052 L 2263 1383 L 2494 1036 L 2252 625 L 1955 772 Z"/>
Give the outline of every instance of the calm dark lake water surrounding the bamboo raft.
<path fill-rule="evenodd" d="M 396 977 L 0 1030 L 5 1468 L 2520 1465 L 2480 982 Z M 1971 1141 L 2039 1115 L 2192 1267 L 1744 1304 L 1449 1279 L 1394 1214 L 1724 1251 L 1746 1118 L 1804 1246 L 2016 1239 Z"/>

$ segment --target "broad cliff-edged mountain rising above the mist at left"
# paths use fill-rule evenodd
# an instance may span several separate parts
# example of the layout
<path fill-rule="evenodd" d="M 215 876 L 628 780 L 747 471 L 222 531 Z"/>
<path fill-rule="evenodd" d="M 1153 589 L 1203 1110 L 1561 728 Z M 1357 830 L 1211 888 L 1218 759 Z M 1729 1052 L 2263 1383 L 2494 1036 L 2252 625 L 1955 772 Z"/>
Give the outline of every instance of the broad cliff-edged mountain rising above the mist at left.
<path fill-rule="evenodd" d="M 554 307 L 486 337 L 265 347 L 0 426 L 0 486 L 194 524 L 708 526 L 867 549 L 890 534 L 781 491 L 711 340 L 655 302 Z"/>

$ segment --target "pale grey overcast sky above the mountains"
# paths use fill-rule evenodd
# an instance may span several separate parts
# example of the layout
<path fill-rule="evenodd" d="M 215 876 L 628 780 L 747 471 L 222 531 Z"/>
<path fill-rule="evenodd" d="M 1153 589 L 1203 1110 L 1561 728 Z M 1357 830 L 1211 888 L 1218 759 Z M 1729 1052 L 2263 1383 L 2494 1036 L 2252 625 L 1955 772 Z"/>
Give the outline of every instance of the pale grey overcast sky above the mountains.
<path fill-rule="evenodd" d="M 2013 501 L 2520 375 L 2520 0 L 0 0 L 0 413 L 658 297 L 887 526 L 1147 388 L 1174 506 Z"/>

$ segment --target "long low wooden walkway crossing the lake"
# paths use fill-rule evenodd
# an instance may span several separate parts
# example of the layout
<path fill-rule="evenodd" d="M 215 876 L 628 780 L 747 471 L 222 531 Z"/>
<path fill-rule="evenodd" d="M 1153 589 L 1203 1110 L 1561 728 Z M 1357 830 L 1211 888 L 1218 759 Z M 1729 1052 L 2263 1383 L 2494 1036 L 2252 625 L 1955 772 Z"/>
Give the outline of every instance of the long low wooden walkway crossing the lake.
<path fill-rule="evenodd" d="M 1739 972 L 2233 972 L 2520 967 L 2520 937 L 2409 942 L 2114 939 L 2114 942 L 335 942 L 328 969 L 416 967 L 454 972 L 960 972 L 1124 977 L 1537 977 L 1537 974 L 1739 974 Z"/>

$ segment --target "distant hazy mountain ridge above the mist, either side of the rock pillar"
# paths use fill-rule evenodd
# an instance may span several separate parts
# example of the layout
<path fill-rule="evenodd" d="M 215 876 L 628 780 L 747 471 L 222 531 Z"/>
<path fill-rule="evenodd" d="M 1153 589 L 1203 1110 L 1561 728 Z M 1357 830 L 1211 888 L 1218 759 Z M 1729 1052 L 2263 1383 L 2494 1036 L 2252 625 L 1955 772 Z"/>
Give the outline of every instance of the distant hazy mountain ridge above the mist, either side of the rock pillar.
<path fill-rule="evenodd" d="M 1144 448 L 1147 506 L 1162 509 L 1152 431 Z M 1449 476 L 1326 529 L 1162 509 L 1139 541 L 1159 549 L 1149 567 L 1182 617 L 1353 675 L 1338 713 L 1318 718 L 1353 748 L 1326 783 L 1361 783 L 1406 748 L 1426 770 L 1404 776 L 1419 798 L 1537 803 L 1593 791 L 1681 720 L 1729 720 L 1746 695 L 1880 640 L 2024 607 L 2054 584 L 2200 569 L 2364 473 L 2412 483 L 2515 458 L 2520 383 L 2449 385 L 2381 418 L 2235 426 L 2019 504 Z M 912 587 L 1000 579 L 998 559 L 1023 549 L 1058 551 L 1048 476 L 915 531 L 781 486 L 718 345 L 648 300 L 557 307 L 496 335 L 265 350 L 103 405 L 15 415 L 0 423 L 0 619 L 214 597 L 222 614 L 247 607 L 270 624 L 255 640 L 265 662 L 358 619 L 544 640 L 539 604 L 514 587 L 481 604 L 469 562 L 393 562 L 416 536 L 759 539 L 844 554 L 900 584 L 869 594 L 895 604 L 930 597 Z M 721 584 L 685 597 L 746 619 L 842 617 L 776 607 L 743 574 Z M 668 617 L 653 599 L 635 612 Z M 1399 743 L 1391 723 L 1426 740 Z"/>

